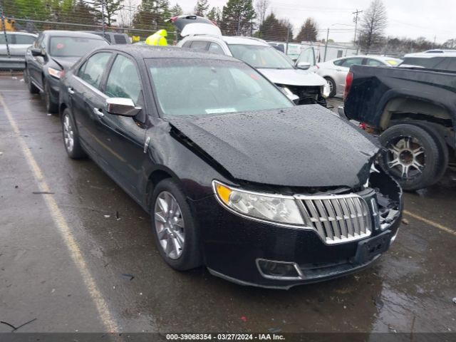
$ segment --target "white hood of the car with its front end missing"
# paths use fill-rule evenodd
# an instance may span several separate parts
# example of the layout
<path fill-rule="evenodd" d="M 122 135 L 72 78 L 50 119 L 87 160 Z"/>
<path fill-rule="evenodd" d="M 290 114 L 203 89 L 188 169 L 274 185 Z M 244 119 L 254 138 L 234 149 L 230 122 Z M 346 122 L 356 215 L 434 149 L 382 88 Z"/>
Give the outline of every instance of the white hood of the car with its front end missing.
<path fill-rule="evenodd" d="M 316 73 L 299 69 L 266 69 L 258 68 L 272 83 L 285 86 L 324 86 L 326 81 Z"/>

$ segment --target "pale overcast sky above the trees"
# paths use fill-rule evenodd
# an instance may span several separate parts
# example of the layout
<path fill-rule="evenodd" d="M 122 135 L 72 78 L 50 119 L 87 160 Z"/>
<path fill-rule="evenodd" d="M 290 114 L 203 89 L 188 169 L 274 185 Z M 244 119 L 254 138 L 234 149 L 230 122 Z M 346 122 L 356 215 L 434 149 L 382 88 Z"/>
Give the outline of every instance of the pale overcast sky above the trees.
<path fill-rule="evenodd" d="M 255 1 L 255 0 L 254 0 Z M 196 0 L 174 0 L 182 6 L 185 13 L 193 11 Z M 295 31 L 303 21 L 311 16 L 318 24 L 318 39 L 329 38 L 337 42 L 353 41 L 355 28 L 353 11 L 366 9 L 370 1 L 366 0 L 269 0 L 269 11 L 274 11 L 279 18 L 287 18 L 294 25 Z M 209 0 L 211 6 L 222 8 L 227 0 Z M 436 36 L 437 43 L 444 43 L 456 38 L 456 1 L 455 0 L 383 0 L 388 11 L 386 36 L 418 38 L 424 36 L 430 41 Z M 362 15 L 362 14 L 361 14 Z M 353 25 L 343 26 L 334 24 Z M 295 32 L 296 34 L 297 32 Z"/>

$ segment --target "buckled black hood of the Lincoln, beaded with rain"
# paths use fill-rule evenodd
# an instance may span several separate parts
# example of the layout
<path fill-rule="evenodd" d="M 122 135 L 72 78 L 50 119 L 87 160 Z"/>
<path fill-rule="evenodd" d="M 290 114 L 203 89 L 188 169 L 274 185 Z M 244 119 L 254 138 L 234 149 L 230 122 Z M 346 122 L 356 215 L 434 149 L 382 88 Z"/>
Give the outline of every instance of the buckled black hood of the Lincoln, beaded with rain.
<path fill-rule="evenodd" d="M 321 105 L 169 121 L 190 149 L 202 150 L 237 180 L 264 185 L 358 187 L 379 150 Z"/>

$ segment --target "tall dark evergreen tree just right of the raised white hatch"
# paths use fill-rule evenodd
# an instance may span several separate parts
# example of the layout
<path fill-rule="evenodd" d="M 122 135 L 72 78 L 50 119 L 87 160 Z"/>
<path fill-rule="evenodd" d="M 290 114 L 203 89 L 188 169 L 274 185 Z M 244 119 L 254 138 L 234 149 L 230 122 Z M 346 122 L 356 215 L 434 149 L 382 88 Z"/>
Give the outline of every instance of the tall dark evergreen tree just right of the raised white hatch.
<path fill-rule="evenodd" d="M 256 16 L 252 0 L 228 0 L 220 28 L 226 36 L 250 36 Z"/>

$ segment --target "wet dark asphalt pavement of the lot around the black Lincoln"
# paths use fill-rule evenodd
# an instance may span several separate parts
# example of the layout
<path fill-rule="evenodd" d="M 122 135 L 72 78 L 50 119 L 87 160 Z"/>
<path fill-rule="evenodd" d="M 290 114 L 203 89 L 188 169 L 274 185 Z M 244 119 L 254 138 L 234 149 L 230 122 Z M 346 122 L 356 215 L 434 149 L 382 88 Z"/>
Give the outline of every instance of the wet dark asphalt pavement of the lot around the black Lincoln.
<path fill-rule="evenodd" d="M 93 162 L 66 156 L 59 119 L 21 76 L 1 77 L 0 95 L 0 321 L 36 318 L 23 332 L 456 331 L 456 172 L 405 195 L 407 224 L 371 268 L 289 291 L 243 287 L 170 269 L 147 213 Z M 53 194 L 32 193 L 46 186 Z"/>

